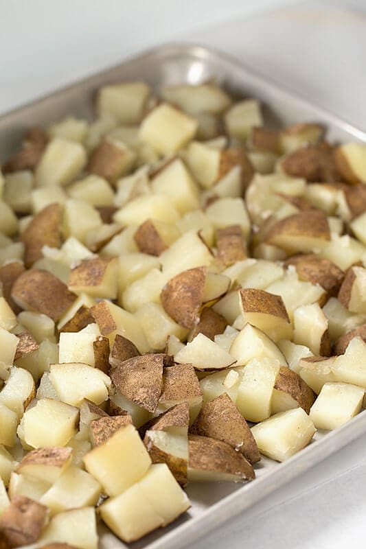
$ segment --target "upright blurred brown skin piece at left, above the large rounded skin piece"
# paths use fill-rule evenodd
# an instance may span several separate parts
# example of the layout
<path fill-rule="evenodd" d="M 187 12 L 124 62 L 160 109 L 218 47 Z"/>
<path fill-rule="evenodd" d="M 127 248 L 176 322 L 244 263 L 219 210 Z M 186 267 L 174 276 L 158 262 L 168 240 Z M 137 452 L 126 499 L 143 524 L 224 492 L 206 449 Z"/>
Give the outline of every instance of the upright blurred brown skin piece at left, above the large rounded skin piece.
<path fill-rule="evenodd" d="M 50 204 L 38 212 L 25 231 L 21 240 L 25 246 L 24 263 L 31 267 L 43 257 L 43 246 L 60 248 L 62 208 L 60 204 Z"/>

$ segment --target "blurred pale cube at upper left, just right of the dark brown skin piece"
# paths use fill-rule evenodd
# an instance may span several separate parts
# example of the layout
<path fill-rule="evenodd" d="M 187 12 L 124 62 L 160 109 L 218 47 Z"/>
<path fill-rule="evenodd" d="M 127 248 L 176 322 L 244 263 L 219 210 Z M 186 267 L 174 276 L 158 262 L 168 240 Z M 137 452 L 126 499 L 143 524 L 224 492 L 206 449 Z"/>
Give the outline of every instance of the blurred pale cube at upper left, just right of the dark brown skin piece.
<path fill-rule="evenodd" d="M 34 173 L 37 187 L 67 185 L 78 176 L 87 163 L 87 154 L 80 143 L 56 137 L 49 141 Z"/>

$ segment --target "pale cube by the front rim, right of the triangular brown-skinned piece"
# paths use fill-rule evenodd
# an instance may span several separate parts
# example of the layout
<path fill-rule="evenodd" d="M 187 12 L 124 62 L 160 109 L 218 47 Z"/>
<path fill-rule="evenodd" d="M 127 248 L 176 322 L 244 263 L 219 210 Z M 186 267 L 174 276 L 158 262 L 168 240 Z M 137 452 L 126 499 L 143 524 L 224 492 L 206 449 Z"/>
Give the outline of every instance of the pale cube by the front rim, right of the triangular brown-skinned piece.
<path fill-rule="evenodd" d="M 285 461 L 310 443 L 314 423 L 302 408 L 280 412 L 251 428 L 260 453 Z"/>

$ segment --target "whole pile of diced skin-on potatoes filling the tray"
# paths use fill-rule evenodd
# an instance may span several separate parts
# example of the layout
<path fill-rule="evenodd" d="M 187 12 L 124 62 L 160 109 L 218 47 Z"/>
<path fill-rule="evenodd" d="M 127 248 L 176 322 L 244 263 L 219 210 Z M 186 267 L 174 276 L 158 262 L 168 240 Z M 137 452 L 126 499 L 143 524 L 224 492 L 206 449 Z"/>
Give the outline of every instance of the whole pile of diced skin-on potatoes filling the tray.
<path fill-rule="evenodd" d="M 363 408 L 366 144 L 102 87 L 0 172 L 0 545 L 97 549 Z"/>

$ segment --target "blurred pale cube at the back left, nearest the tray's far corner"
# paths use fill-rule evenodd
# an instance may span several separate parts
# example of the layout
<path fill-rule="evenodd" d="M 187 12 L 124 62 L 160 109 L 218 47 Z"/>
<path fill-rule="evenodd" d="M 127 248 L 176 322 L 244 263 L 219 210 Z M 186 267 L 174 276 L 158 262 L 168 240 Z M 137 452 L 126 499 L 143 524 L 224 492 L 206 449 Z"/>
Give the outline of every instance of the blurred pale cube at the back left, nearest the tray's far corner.
<path fill-rule="evenodd" d="M 120 124 L 136 124 L 141 119 L 149 95 L 150 87 L 145 82 L 103 86 L 98 93 L 98 113 L 100 117 L 115 117 Z"/>

